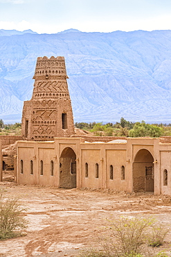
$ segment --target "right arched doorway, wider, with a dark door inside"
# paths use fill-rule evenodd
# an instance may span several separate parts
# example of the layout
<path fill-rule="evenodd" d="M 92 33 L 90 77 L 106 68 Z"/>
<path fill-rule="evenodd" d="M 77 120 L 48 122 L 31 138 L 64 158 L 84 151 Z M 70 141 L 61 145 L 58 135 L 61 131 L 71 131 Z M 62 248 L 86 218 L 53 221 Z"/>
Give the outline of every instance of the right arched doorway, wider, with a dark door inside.
<path fill-rule="evenodd" d="M 147 149 L 138 151 L 133 163 L 134 192 L 154 192 L 154 158 Z"/>

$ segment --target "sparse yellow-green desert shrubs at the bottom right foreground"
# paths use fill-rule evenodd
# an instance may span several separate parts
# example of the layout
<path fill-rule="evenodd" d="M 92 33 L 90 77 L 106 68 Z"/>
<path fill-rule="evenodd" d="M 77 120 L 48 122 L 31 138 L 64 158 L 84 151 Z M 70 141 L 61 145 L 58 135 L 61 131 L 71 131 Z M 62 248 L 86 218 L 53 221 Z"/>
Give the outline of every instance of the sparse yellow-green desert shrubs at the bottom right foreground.
<path fill-rule="evenodd" d="M 163 244 L 168 233 L 156 219 L 120 217 L 108 221 L 98 238 L 98 249 L 83 251 L 82 257 L 167 257 L 164 251 L 152 251 L 150 247 Z"/>

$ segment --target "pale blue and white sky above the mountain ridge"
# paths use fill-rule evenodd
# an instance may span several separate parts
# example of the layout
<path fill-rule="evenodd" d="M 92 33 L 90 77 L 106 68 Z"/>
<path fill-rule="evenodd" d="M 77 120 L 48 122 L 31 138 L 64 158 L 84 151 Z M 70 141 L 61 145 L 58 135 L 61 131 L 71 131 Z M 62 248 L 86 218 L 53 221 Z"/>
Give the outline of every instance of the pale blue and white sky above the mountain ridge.
<path fill-rule="evenodd" d="M 57 33 L 171 29 L 171 0 L 0 0 L 0 29 Z"/>

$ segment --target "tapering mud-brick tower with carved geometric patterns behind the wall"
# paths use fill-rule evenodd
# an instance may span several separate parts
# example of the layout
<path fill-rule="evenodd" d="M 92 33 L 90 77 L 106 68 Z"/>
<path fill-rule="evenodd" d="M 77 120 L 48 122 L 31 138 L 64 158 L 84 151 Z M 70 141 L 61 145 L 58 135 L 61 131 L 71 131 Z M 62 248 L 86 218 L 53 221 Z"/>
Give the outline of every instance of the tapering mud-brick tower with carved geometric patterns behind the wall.
<path fill-rule="evenodd" d="M 64 57 L 38 57 L 32 99 L 24 101 L 22 135 L 46 141 L 74 134 Z"/>

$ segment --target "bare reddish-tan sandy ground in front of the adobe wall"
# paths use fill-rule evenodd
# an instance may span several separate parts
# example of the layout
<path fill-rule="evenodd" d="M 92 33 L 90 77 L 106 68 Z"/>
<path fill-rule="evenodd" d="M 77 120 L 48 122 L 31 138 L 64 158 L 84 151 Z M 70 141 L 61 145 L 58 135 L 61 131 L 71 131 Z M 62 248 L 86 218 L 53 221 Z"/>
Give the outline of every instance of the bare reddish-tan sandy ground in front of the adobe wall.
<path fill-rule="evenodd" d="M 17 197 L 27 210 L 27 235 L 0 241 L 0 256 L 78 256 L 98 245 L 107 219 L 155 217 L 171 227 L 171 197 L 107 190 L 57 189 L 51 186 L 16 185 L 5 179 L 3 197 Z M 171 233 L 157 251 L 170 247 Z"/>

